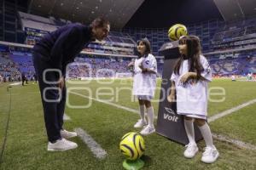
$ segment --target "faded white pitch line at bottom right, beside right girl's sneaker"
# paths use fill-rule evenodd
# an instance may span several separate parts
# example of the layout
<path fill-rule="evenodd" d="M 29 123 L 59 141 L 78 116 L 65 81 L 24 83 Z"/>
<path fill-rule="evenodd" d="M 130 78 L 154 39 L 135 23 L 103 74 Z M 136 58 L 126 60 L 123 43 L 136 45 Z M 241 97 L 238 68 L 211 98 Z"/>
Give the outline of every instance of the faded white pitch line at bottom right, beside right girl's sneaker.
<path fill-rule="evenodd" d="M 236 139 L 230 139 L 228 137 L 225 137 L 221 134 L 216 134 L 216 133 L 212 133 L 212 137 L 224 142 L 228 142 L 231 144 L 236 144 L 237 146 L 241 147 L 241 148 L 245 148 L 247 150 L 256 150 L 256 146 L 253 144 L 249 144 L 249 143 L 245 143 L 242 142 L 241 140 L 236 140 Z"/>

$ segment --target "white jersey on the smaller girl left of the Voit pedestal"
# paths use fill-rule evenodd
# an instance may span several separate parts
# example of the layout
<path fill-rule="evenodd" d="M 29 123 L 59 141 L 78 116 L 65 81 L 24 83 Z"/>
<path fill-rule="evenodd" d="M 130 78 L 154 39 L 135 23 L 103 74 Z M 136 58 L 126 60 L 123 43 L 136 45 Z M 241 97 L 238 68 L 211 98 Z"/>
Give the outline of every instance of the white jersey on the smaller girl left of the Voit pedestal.
<path fill-rule="evenodd" d="M 141 64 L 143 64 L 144 68 L 157 72 L 157 63 L 154 55 L 148 54 L 146 58 L 135 59 L 132 94 L 154 97 L 156 74 L 142 73 L 142 70 L 139 68 Z"/>

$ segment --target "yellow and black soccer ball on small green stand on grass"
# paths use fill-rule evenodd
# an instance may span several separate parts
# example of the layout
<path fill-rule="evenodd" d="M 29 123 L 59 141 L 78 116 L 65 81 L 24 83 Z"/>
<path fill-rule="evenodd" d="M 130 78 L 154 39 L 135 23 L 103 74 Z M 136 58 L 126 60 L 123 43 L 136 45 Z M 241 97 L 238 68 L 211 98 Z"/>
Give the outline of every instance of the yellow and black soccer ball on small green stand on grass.
<path fill-rule="evenodd" d="M 139 133 L 126 133 L 119 144 L 123 155 L 129 160 L 137 160 L 143 156 L 145 142 Z"/>

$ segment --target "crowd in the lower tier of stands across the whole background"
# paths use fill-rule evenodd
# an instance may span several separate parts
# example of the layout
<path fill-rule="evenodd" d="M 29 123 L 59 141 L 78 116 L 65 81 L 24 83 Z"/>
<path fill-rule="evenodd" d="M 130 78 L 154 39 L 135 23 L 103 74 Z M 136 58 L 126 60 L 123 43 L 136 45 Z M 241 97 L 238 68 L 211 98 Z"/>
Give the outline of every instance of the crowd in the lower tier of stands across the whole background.
<path fill-rule="evenodd" d="M 211 54 L 207 59 L 214 77 L 229 77 L 234 74 L 246 77 L 248 73 L 256 73 L 256 51 L 253 50 L 236 54 Z M 66 76 L 71 79 L 115 77 L 117 73 L 131 73 L 127 68 L 130 62 L 131 58 L 80 54 L 67 67 Z M 157 62 L 160 76 L 163 59 L 157 59 Z M 34 76 L 32 55 L 29 53 L 2 53 L 0 63 L 0 79 L 4 82 L 20 81 L 21 74 L 25 74 L 27 80 L 32 80 Z"/>

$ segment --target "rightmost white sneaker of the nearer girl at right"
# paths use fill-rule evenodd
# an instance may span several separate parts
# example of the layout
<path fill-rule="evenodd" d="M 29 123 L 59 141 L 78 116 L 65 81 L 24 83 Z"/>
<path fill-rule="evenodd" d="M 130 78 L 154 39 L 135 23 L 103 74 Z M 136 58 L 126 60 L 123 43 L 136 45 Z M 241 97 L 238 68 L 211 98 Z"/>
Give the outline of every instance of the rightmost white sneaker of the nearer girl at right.
<path fill-rule="evenodd" d="M 208 146 L 204 150 L 205 151 L 201 156 L 201 161 L 205 163 L 213 163 L 214 161 L 217 160 L 219 153 L 218 153 L 218 150 L 215 148 L 215 146 L 213 147 Z"/>

